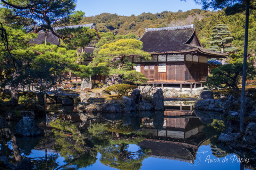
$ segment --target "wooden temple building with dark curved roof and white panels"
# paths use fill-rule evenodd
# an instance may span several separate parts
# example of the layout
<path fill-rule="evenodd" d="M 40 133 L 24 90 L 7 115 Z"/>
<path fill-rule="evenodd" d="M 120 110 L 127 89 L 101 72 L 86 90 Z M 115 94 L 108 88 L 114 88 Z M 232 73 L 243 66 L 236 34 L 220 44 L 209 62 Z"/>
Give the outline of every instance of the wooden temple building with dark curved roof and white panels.
<path fill-rule="evenodd" d="M 129 57 L 134 70 L 141 72 L 153 84 L 183 84 L 196 86 L 208 76 L 208 58 L 225 58 L 227 54 L 203 48 L 193 25 L 146 28 L 140 38 L 142 50 L 151 60 Z"/>

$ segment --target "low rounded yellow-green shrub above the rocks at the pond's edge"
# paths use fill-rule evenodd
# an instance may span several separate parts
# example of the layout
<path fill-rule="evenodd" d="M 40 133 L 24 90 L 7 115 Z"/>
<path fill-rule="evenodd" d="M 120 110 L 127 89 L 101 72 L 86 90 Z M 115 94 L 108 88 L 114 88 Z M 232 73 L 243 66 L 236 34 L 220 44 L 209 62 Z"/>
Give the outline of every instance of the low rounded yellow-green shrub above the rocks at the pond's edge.
<path fill-rule="evenodd" d="M 118 84 L 118 85 L 111 85 L 105 89 L 106 92 L 115 92 L 116 94 L 127 94 L 129 91 L 133 91 L 137 89 L 137 85 L 128 85 L 128 84 Z"/>

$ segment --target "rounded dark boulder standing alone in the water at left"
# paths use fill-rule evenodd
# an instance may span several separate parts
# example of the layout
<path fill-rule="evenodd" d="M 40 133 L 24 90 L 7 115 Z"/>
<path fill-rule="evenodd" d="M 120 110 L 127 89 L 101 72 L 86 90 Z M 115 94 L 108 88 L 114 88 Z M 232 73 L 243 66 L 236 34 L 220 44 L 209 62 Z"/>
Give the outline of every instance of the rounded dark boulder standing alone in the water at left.
<path fill-rule="evenodd" d="M 16 125 L 17 136 L 38 136 L 43 135 L 42 130 L 38 128 L 35 120 L 31 117 L 23 117 Z"/>

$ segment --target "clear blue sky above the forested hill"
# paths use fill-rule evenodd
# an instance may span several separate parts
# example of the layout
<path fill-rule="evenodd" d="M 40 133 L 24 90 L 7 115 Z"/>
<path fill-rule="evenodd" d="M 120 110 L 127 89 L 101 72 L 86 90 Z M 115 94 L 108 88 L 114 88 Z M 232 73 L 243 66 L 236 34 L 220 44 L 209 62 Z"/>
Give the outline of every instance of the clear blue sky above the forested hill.
<path fill-rule="evenodd" d="M 142 12 L 177 12 L 201 8 L 194 1 L 180 0 L 77 0 L 76 10 L 85 12 L 85 16 L 94 16 L 103 12 L 130 16 L 140 15 Z"/>

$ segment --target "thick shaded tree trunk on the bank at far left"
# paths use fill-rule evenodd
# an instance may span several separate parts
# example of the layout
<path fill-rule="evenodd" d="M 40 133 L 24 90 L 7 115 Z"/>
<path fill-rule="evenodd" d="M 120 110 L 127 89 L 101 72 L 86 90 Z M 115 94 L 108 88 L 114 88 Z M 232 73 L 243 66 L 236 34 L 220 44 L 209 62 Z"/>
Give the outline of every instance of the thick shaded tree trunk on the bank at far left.
<path fill-rule="evenodd" d="M 17 73 L 16 71 L 13 73 L 12 78 L 12 86 L 11 86 L 11 106 L 16 107 L 18 105 L 19 100 L 19 93 L 18 93 L 18 85 L 19 82 L 17 81 Z"/>

